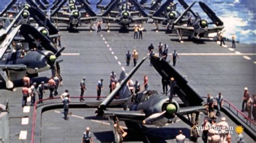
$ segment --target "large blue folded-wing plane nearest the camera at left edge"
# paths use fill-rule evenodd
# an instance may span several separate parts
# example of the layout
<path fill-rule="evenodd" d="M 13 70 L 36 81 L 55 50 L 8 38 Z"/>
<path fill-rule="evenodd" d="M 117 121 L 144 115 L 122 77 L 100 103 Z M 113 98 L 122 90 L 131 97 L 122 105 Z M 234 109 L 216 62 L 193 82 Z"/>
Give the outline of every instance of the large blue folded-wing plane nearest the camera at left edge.
<path fill-rule="evenodd" d="M 18 31 L 29 42 L 30 49 L 22 48 L 8 52 Z M 0 79 L 5 81 L 7 89 L 12 89 L 14 88 L 12 81 L 22 79 L 26 73 L 30 77 L 38 76 L 39 72 L 49 69 L 59 73 L 59 62 L 62 60 L 59 60 L 58 57 L 63 50 L 64 47 L 59 51 L 52 47 L 49 39 L 35 27 L 27 24 L 19 25 L 8 34 L 1 44 Z"/>

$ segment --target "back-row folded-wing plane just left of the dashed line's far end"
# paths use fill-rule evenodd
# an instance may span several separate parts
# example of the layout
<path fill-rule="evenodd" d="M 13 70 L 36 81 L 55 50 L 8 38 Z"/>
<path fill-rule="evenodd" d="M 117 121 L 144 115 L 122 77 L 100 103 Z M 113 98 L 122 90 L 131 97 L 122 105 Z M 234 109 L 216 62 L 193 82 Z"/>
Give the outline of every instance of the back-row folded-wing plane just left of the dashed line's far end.
<path fill-rule="evenodd" d="M 72 3 L 70 3 L 72 2 Z M 68 28 L 82 26 L 82 23 L 90 24 L 90 30 L 92 30 L 93 22 L 97 19 L 96 13 L 91 9 L 90 5 L 82 0 L 78 0 L 80 8 L 78 9 L 74 1 L 69 2 L 69 12 L 63 13 L 68 17 L 51 17 L 52 20 L 60 23 L 68 24 Z M 84 9 L 85 11 L 81 11 Z"/>

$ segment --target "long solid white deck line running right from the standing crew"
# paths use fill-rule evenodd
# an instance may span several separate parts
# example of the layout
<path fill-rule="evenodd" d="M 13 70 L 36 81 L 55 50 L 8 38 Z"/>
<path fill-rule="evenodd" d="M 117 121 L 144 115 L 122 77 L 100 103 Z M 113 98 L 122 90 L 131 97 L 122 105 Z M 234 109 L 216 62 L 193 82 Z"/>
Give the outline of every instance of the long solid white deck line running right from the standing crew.
<path fill-rule="evenodd" d="M 159 55 L 159 54 L 154 54 L 154 55 Z M 172 55 L 172 54 L 170 53 L 169 55 Z M 178 53 L 178 55 L 256 55 L 256 53 L 240 53 L 235 51 L 235 53 Z"/>

